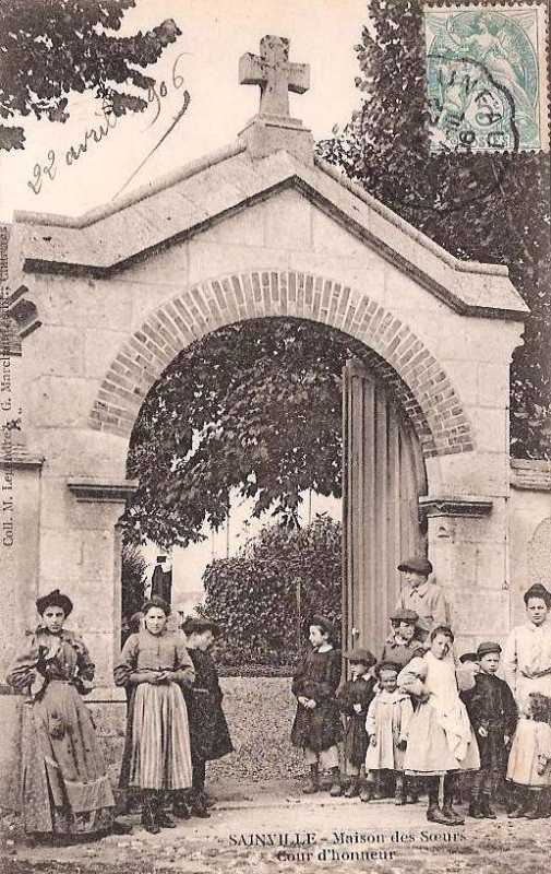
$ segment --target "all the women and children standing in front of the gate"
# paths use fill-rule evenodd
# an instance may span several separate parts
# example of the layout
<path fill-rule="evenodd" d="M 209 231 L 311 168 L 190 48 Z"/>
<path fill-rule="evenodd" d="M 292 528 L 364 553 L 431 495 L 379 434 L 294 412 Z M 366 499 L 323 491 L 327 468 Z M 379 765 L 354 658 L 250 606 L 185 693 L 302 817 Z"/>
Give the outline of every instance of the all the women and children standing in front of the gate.
<path fill-rule="evenodd" d="M 458 777 L 470 775 L 469 815 L 494 818 L 492 792 L 506 776 L 518 788 L 511 817 L 549 815 L 551 787 L 551 593 L 524 594 L 528 622 L 501 647 L 482 642 L 457 659 L 442 590 L 426 558 L 407 559 L 392 634 L 379 661 L 366 649 L 345 653 L 342 680 L 335 629 L 310 623 L 311 649 L 295 673 L 292 743 L 304 752 L 306 793 L 331 773 L 332 795 L 369 802 L 392 775 L 397 804 L 426 791 L 430 822 L 459 825 Z M 71 600 L 55 590 L 38 599 L 40 624 L 17 654 L 8 682 L 27 693 L 23 742 L 23 810 L 28 831 L 92 835 L 124 830 L 113 819 L 113 793 L 82 696 L 94 664 L 64 622 Z M 152 832 L 175 826 L 172 815 L 208 816 L 205 766 L 232 749 L 223 694 L 208 653 L 219 629 L 188 618 L 170 630 L 169 605 L 152 598 L 142 627 L 124 642 L 115 682 L 128 697 L 120 787 L 136 792 L 142 824 Z M 446 622 L 443 622 L 446 619 Z M 347 784 L 338 747 L 344 741 Z M 420 779 L 422 778 L 422 779 Z"/>

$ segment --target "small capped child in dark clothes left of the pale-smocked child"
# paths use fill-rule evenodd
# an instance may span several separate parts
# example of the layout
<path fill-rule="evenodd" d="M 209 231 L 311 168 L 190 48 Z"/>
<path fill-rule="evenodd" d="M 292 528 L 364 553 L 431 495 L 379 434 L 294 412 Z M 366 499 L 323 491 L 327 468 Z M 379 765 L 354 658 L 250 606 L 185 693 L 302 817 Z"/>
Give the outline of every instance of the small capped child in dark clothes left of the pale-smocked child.
<path fill-rule="evenodd" d="M 343 683 L 337 692 L 337 704 L 346 718 L 345 767 L 350 781 L 345 790 L 347 799 L 357 798 L 360 789 L 360 769 L 366 761 L 368 735 L 366 717 L 374 696 L 376 681 L 369 673 L 376 659 L 367 649 L 345 652 L 350 663 L 351 680 Z"/>

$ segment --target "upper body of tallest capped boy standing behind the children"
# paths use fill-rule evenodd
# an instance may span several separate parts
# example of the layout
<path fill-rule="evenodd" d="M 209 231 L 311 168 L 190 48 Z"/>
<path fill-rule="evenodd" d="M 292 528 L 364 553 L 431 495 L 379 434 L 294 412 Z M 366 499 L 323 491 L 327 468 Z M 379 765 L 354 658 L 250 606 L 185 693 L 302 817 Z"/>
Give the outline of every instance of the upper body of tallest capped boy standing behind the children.
<path fill-rule="evenodd" d="M 432 565 L 423 556 L 406 558 L 398 565 L 406 586 L 396 602 L 396 610 L 411 610 L 426 623 L 427 633 L 439 625 L 450 626 L 450 607 L 440 586 L 429 582 Z"/>

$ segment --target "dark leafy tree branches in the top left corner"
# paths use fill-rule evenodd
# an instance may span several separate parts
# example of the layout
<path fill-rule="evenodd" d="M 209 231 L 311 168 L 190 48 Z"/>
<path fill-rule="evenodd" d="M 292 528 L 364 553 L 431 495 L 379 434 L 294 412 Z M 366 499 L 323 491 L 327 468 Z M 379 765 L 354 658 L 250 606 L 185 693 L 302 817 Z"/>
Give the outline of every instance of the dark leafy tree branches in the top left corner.
<path fill-rule="evenodd" d="M 140 68 L 155 63 L 181 31 L 167 19 L 147 33 L 115 36 L 136 0 L 0 0 L 0 116 L 67 121 L 70 92 L 93 91 L 116 116 L 142 111 L 155 80 Z M 0 125 L 0 149 L 23 149 L 22 127 Z"/>

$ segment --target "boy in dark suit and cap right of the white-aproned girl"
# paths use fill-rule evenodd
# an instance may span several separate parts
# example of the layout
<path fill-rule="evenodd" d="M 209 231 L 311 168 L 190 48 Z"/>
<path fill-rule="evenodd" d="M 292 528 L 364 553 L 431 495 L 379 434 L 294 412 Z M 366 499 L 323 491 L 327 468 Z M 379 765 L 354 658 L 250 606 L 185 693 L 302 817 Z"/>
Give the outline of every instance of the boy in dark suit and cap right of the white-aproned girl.
<path fill-rule="evenodd" d="M 475 688 L 465 699 L 480 752 L 480 770 L 472 776 L 470 788 L 469 816 L 495 819 L 491 806 L 493 789 L 505 777 L 518 716 L 513 693 L 504 680 L 495 676 L 501 659 L 500 645 L 480 643 L 477 657 L 480 672 Z"/>

